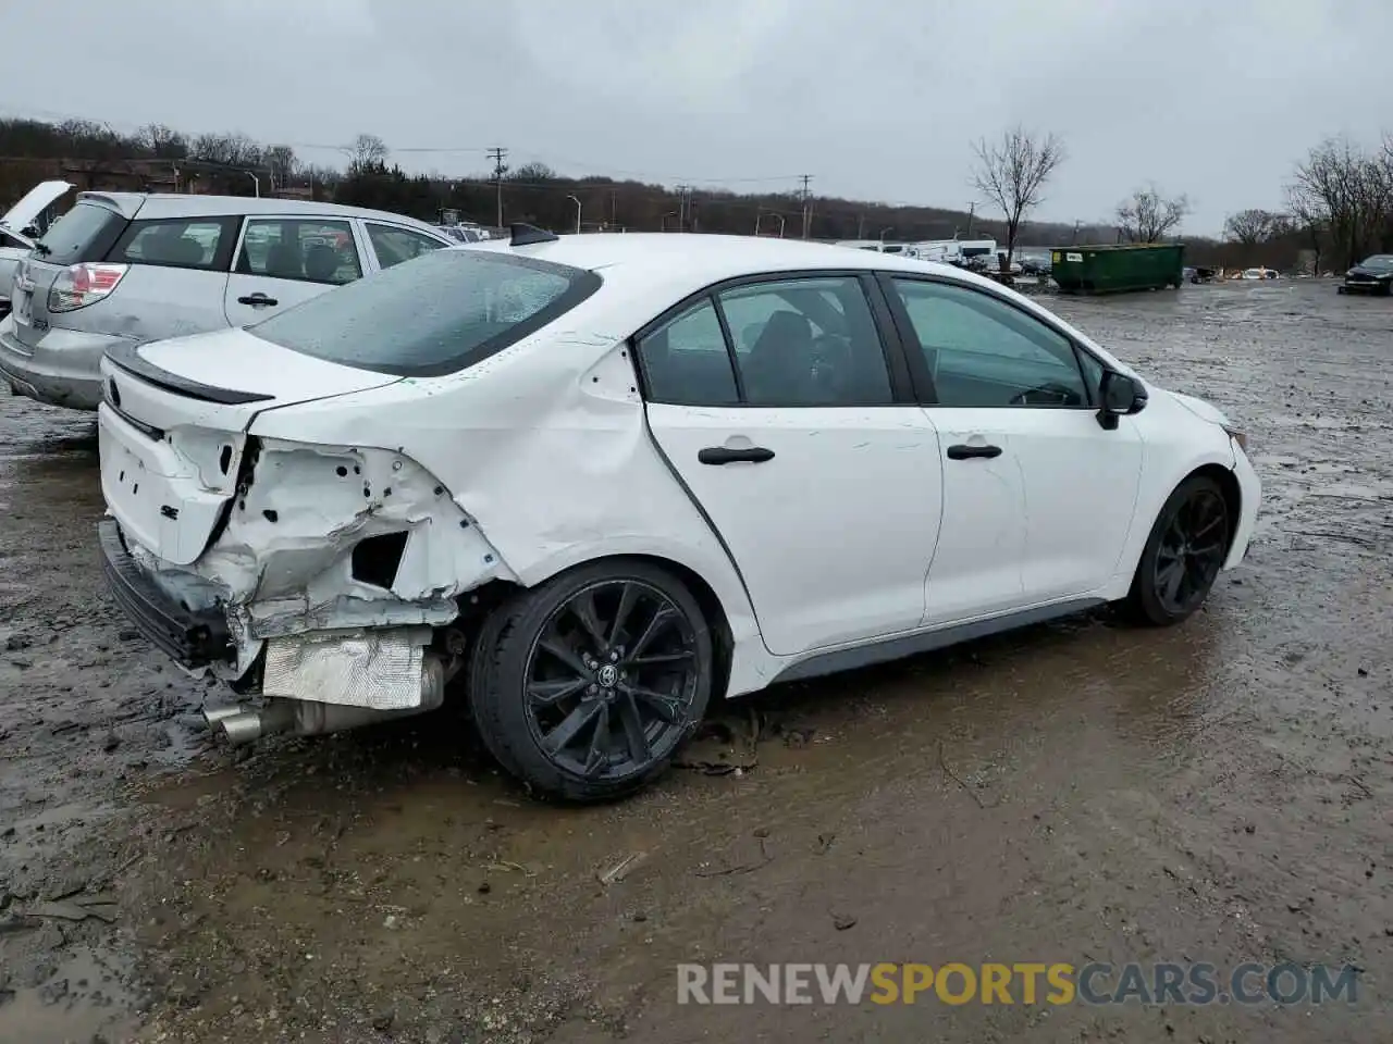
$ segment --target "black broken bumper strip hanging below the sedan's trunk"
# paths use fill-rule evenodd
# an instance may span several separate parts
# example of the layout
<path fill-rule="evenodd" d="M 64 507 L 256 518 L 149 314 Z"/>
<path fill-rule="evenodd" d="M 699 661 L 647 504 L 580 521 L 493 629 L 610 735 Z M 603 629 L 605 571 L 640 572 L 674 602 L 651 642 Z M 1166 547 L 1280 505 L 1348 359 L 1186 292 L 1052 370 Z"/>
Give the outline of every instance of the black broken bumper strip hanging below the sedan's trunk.
<path fill-rule="evenodd" d="M 220 610 L 191 610 L 160 587 L 137 564 L 114 519 L 98 523 L 98 540 L 107 587 L 141 633 L 189 670 L 233 661 L 235 646 Z"/>

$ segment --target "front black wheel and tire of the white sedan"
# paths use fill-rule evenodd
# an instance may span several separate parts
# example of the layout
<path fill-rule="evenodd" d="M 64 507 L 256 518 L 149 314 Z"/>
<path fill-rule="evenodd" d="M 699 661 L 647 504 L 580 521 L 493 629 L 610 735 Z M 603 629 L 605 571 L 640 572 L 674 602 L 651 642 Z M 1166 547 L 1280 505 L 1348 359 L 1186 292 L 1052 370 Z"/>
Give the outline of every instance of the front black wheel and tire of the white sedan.
<path fill-rule="evenodd" d="M 1231 535 L 1233 521 L 1219 483 L 1191 475 L 1156 515 L 1131 590 L 1121 603 L 1124 615 L 1142 625 L 1170 626 L 1194 614 L 1219 576 Z M 1177 543 L 1184 550 L 1177 550 Z M 1181 579 L 1173 590 L 1176 562 Z"/>

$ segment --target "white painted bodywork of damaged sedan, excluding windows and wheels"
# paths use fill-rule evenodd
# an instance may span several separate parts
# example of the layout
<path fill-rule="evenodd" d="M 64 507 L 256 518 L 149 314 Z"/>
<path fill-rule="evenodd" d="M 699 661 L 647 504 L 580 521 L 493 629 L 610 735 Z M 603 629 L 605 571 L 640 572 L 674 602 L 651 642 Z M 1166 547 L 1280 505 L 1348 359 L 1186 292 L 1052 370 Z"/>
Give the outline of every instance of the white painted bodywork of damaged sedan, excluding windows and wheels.
<path fill-rule="evenodd" d="M 531 587 L 582 562 L 651 555 L 713 592 L 731 639 L 717 695 L 738 696 L 830 651 L 1123 599 L 1162 504 L 1206 465 L 1241 487 L 1224 568 L 1241 561 L 1251 537 L 1259 484 L 1222 415 L 1151 384 L 1145 409 L 1119 418 L 1116 430 L 1088 409 L 645 408 L 630 358 L 635 331 L 722 280 L 932 273 L 1006 299 L 1137 377 L 988 278 L 734 237 L 585 235 L 453 249 L 574 266 L 603 285 L 553 323 L 443 376 L 320 363 L 260 341 L 255 329 L 146 345 L 127 363 L 260 401 L 188 398 L 103 362 L 103 380 L 124 404 L 100 408 L 109 512 L 162 586 L 202 592 L 206 604 L 226 608 L 238 647 L 235 664 L 217 668 L 224 677 L 245 671 L 267 639 L 440 625 L 454 600 L 492 580 Z M 262 451 L 238 490 L 248 436 Z M 939 450 L 951 441 L 992 441 L 1006 452 L 949 468 Z M 751 443 L 776 448 L 777 466 L 692 465 L 701 447 Z M 162 515 L 162 504 L 177 518 Z M 219 530 L 224 511 L 231 522 Z M 352 544 L 403 523 L 412 536 L 393 590 L 352 582 Z"/>

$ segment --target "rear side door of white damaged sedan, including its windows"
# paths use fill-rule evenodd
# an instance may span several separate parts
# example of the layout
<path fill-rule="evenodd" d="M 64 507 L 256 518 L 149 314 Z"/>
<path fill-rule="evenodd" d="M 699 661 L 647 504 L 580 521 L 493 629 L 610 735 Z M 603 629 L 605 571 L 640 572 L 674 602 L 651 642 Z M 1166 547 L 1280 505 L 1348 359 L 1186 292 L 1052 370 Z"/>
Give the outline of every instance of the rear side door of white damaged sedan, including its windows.
<path fill-rule="evenodd" d="M 745 281 L 638 338 L 653 438 L 729 548 L 776 654 L 924 617 L 937 436 L 868 291 L 857 274 Z"/>

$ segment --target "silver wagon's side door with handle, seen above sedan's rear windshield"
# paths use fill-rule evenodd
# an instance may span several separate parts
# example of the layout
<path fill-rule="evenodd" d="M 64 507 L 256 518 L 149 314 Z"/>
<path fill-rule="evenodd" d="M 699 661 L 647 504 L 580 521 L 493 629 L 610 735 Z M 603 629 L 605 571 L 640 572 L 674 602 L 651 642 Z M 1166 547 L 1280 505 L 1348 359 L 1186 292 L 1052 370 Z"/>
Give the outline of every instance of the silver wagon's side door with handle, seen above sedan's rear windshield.
<path fill-rule="evenodd" d="M 231 326 L 259 323 L 326 290 L 362 278 L 352 224 L 343 217 L 248 217 L 223 310 Z"/>

